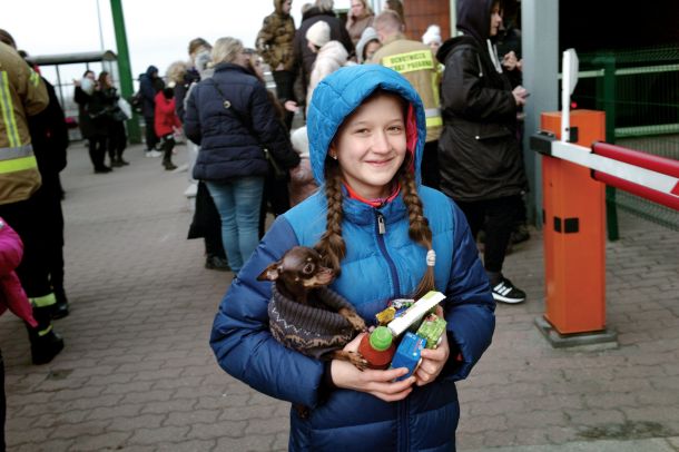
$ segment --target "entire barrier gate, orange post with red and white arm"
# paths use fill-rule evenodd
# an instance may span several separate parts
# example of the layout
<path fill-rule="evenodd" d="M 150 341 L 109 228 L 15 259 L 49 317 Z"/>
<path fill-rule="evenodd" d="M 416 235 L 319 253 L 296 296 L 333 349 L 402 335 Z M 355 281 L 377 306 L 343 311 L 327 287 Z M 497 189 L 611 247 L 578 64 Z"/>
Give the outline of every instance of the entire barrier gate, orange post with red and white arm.
<path fill-rule="evenodd" d="M 604 184 L 679 210 L 679 161 L 602 143 L 602 111 L 570 111 L 578 57 L 564 51 L 562 112 L 544 112 L 531 148 L 542 158 L 545 312 L 554 347 L 617 346 L 606 325 Z"/>

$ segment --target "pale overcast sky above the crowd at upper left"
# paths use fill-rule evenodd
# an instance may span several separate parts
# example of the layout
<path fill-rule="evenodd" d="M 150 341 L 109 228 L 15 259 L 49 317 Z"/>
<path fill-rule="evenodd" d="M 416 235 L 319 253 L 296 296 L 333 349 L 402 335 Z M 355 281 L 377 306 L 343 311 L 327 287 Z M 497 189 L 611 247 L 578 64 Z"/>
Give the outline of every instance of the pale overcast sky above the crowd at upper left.
<path fill-rule="evenodd" d="M 306 1 L 312 0 L 293 1 L 297 27 L 299 10 Z M 108 0 L 2 0 L 2 3 L 0 28 L 8 30 L 19 49 L 30 55 L 96 51 L 101 49 L 101 40 L 104 48 L 117 52 Z M 149 65 L 165 75 L 173 61 L 188 58 L 188 42 L 196 37 L 214 42 L 232 36 L 246 47 L 254 47 L 262 20 L 273 11 L 273 0 L 122 0 L 132 77 L 137 78 Z M 348 4 L 350 0 L 335 0 L 335 8 Z M 61 77 L 70 80 L 82 70 L 82 67 L 66 69 Z M 53 71 L 46 69 L 43 75 L 55 81 Z"/>

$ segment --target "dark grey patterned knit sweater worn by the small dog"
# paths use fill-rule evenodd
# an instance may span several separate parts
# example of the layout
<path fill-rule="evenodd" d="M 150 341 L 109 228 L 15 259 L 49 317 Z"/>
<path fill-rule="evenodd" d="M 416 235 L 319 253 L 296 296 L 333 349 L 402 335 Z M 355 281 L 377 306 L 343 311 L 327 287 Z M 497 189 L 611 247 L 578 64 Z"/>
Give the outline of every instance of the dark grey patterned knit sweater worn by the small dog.
<path fill-rule="evenodd" d="M 355 335 L 346 318 L 337 314 L 342 307 L 354 307 L 341 295 L 321 287 L 313 292 L 324 305 L 333 311 L 299 304 L 285 297 L 276 285 L 272 285 L 268 317 L 272 335 L 288 348 L 315 358 L 341 350 Z"/>

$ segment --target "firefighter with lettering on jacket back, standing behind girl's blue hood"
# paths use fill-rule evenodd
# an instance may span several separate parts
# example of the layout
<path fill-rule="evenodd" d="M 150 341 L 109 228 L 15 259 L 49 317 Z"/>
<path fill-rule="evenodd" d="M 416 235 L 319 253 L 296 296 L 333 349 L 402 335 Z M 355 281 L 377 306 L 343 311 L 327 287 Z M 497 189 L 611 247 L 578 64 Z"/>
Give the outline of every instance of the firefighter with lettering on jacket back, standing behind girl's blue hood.
<path fill-rule="evenodd" d="M 422 155 L 422 184 L 439 189 L 439 137 L 443 127 L 439 97 L 439 62 L 429 46 L 406 39 L 401 32 L 401 19 L 394 11 L 380 13 L 373 27 L 382 47 L 371 62 L 394 69 L 415 88 L 426 116 L 426 144 Z"/>

